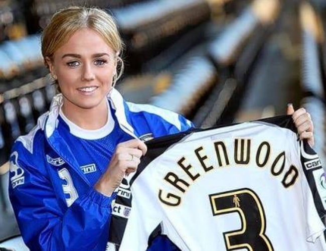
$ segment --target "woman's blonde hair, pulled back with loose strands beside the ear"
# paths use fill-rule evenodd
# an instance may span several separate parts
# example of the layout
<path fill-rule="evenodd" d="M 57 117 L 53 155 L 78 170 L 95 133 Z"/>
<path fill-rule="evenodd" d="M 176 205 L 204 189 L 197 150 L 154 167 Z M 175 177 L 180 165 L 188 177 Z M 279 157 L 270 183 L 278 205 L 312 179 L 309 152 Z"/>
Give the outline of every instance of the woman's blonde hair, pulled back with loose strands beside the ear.
<path fill-rule="evenodd" d="M 83 28 L 98 32 L 115 52 L 119 72 L 113 76 L 114 85 L 123 72 L 124 65 L 120 54 L 124 45 L 113 17 L 97 8 L 73 6 L 59 10 L 52 16 L 50 24 L 45 27 L 41 36 L 42 55 L 46 66 L 46 58 L 51 59 L 57 49 Z"/>

